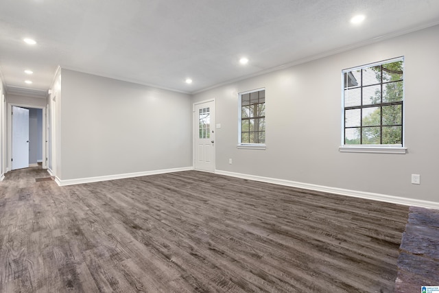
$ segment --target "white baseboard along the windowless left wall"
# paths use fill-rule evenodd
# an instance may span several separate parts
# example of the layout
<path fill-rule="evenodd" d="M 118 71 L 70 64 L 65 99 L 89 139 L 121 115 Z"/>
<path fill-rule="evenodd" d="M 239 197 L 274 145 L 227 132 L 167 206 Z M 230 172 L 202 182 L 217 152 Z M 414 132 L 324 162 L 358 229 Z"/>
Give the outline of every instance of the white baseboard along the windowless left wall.
<path fill-rule="evenodd" d="M 116 179 L 123 179 L 123 178 L 149 176 L 149 175 L 164 174 L 164 173 L 171 173 L 171 172 L 182 172 L 182 171 L 189 171 L 189 170 L 193 170 L 193 167 L 182 167 L 182 168 L 174 168 L 174 169 L 163 169 L 163 170 L 135 172 L 135 173 L 108 175 L 108 176 L 97 176 L 97 177 L 88 177 L 88 178 L 78 178 L 78 179 L 67 179 L 67 180 L 61 180 L 60 178 L 55 177 L 55 182 L 59 186 L 66 186 L 66 185 L 93 183 L 93 182 L 107 181 L 107 180 L 116 180 Z M 51 172 L 49 172 L 49 174 L 50 173 Z"/>

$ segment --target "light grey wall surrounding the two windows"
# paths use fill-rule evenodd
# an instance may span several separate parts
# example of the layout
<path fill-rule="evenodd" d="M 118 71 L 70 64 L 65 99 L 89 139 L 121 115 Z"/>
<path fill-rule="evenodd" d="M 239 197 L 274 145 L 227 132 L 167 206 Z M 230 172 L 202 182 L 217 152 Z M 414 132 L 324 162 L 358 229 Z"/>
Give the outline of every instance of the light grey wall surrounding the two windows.
<path fill-rule="evenodd" d="M 216 168 L 439 202 L 439 26 L 193 95 L 216 98 Z M 405 56 L 407 154 L 340 153 L 342 69 Z M 237 93 L 265 87 L 266 150 L 237 150 Z M 228 159 L 233 159 L 233 165 Z M 410 183 L 420 174 L 420 185 Z"/>

